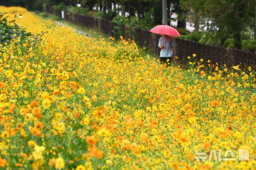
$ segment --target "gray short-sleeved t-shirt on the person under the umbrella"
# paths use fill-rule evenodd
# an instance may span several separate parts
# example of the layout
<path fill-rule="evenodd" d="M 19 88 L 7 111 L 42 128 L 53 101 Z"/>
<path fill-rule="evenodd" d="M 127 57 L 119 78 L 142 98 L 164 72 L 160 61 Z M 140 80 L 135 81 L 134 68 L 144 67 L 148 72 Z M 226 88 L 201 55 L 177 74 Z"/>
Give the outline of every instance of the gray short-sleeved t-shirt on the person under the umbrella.
<path fill-rule="evenodd" d="M 158 46 L 161 46 L 163 44 L 164 40 L 164 49 L 160 52 L 160 57 L 172 57 L 173 56 L 173 49 L 172 47 L 176 46 L 176 42 L 174 41 L 174 38 L 172 36 L 162 36 L 159 39 Z"/>

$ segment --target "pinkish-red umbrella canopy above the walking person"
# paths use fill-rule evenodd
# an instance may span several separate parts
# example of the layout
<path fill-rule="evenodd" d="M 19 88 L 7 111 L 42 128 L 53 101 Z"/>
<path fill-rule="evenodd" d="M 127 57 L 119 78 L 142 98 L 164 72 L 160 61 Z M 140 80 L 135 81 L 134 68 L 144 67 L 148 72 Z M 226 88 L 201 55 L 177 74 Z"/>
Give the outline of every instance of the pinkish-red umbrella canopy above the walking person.
<path fill-rule="evenodd" d="M 155 26 L 149 32 L 170 35 L 170 36 L 180 36 L 180 33 L 178 33 L 178 31 L 175 28 L 167 26 L 167 25 Z"/>

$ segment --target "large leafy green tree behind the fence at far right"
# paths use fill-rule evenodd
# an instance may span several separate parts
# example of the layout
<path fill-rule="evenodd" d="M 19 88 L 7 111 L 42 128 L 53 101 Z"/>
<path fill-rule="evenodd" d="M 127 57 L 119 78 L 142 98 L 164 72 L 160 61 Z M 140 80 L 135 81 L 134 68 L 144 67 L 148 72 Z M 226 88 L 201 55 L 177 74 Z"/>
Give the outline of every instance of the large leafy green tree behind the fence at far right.
<path fill-rule="evenodd" d="M 241 49 L 241 33 L 252 23 L 254 2 L 251 0 L 207 0 L 205 10 L 212 25 L 212 31 L 217 32 L 220 39 L 232 35 L 234 46 Z M 214 27 L 215 26 L 215 27 Z"/>

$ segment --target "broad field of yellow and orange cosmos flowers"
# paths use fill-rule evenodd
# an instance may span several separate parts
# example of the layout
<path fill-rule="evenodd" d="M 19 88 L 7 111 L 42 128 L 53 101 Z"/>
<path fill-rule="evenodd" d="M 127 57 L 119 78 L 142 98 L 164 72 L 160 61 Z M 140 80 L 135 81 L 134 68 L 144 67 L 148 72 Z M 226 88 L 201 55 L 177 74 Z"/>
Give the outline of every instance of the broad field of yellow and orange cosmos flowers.
<path fill-rule="evenodd" d="M 0 45 L 0 169 L 256 168 L 251 68 L 209 70 L 196 55 L 166 68 L 132 41 L 0 11 L 47 32 Z"/>

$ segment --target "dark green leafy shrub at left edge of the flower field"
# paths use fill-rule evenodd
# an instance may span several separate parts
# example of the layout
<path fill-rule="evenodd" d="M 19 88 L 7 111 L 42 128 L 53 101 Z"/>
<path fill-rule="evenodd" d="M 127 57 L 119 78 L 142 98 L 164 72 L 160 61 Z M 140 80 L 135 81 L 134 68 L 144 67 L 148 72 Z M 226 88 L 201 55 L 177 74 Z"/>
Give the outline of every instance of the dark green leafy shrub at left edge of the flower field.
<path fill-rule="evenodd" d="M 29 32 L 26 32 L 25 28 L 19 27 L 15 20 L 7 21 L 7 17 L 4 17 L 6 13 L 0 14 L 0 44 L 9 45 L 11 40 L 17 38 L 19 41 L 37 41 L 41 40 L 42 35 L 44 34 L 37 34 L 36 36 L 32 35 Z M 38 39 L 39 36 L 39 39 Z"/>

